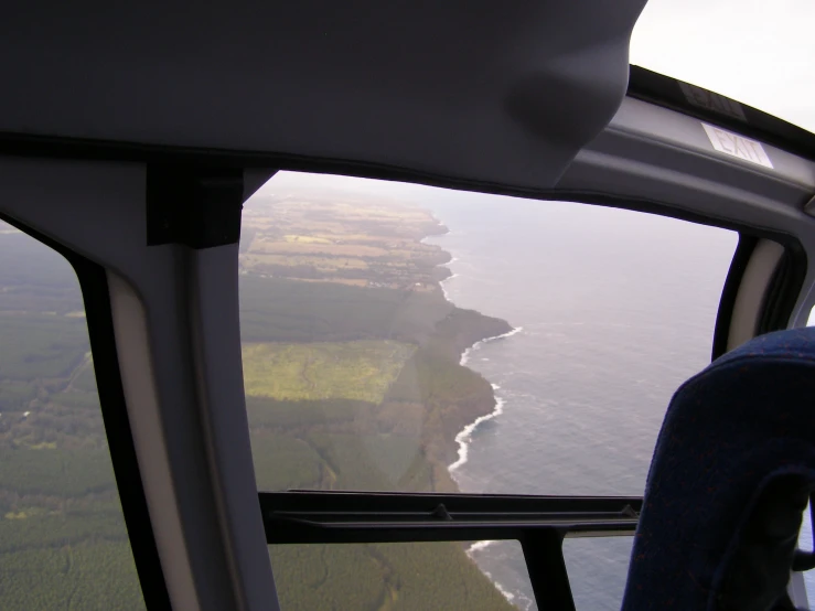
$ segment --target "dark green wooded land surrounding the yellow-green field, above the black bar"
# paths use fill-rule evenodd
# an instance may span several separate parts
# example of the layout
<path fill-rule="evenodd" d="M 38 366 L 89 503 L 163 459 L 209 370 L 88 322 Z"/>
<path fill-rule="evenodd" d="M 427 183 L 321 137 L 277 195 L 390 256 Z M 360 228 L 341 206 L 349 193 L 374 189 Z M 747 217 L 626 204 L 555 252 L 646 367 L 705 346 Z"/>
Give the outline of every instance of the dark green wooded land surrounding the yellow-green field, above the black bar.
<path fill-rule="evenodd" d="M 454 308 L 440 291 L 245 277 L 242 298 L 245 344 L 378 339 L 416 345 L 378 404 L 342 396 L 282 400 L 249 395 L 260 489 L 455 490 L 447 470 L 457 451 L 455 433 L 495 405 L 490 384 L 459 365 L 459 357 L 473 342 L 507 332 L 506 322 Z M 243 324 L 247 319 L 251 324 Z M 328 441 L 315 443 L 318 436 Z M 280 444 L 280 437 L 296 442 Z M 380 446 L 384 450 L 377 452 Z M 410 448 L 409 460 L 400 460 L 398 469 L 386 469 L 389 460 L 382 454 L 405 447 Z M 337 451 L 344 460 L 332 457 Z M 304 457 L 317 461 L 308 472 L 318 473 L 318 479 L 291 483 L 286 473 L 302 469 L 303 461 L 312 462 Z"/>

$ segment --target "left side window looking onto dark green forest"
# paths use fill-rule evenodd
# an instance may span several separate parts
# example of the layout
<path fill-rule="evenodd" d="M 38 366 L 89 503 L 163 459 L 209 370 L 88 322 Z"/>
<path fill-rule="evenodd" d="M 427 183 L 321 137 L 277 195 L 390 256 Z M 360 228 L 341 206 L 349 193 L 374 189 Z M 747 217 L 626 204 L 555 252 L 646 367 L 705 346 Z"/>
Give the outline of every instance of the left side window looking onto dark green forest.
<path fill-rule="evenodd" d="M 0 608 L 144 609 L 79 282 L 0 223 Z"/>

